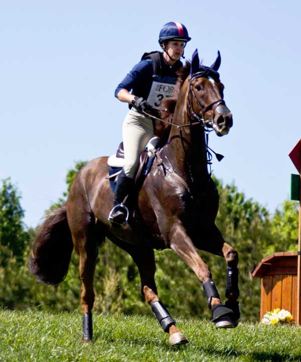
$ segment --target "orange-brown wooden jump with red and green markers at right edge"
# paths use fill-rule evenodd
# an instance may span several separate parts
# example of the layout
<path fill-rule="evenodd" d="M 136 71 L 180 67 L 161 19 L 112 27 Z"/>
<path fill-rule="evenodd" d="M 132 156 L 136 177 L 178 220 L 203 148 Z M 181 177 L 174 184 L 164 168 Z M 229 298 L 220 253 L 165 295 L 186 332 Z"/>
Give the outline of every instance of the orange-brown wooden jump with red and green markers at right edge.
<path fill-rule="evenodd" d="M 289 153 L 298 170 L 291 175 L 291 200 L 299 201 L 298 251 L 278 252 L 261 260 L 253 277 L 261 278 L 260 320 L 274 308 L 288 310 L 301 325 L 301 139 Z"/>

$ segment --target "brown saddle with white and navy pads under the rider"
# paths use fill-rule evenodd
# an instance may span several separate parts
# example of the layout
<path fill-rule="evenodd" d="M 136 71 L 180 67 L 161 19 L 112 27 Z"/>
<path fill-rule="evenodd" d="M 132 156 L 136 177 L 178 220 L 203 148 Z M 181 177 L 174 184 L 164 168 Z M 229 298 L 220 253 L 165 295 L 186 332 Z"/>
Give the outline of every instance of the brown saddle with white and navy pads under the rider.
<path fill-rule="evenodd" d="M 135 188 L 138 188 L 142 185 L 145 177 L 152 168 L 155 159 L 155 151 L 159 148 L 159 145 L 160 138 L 155 136 L 148 141 L 145 149 L 140 153 L 139 166 L 134 180 Z M 123 142 L 119 144 L 116 154 L 108 158 L 107 163 L 110 168 L 109 175 L 106 176 L 106 179 L 110 180 L 110 186 L 112 191 L 114 192 L 118 176 L 124 166 Z"/>

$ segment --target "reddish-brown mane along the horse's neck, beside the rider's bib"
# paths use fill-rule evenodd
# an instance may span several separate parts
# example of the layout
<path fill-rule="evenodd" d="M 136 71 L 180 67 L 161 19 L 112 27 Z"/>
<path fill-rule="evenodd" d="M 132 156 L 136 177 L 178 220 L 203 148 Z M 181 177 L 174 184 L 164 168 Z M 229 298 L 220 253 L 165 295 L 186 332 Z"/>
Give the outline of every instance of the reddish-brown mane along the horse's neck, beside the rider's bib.
<path fill-rule="evenodd" d="M 175 85 L 175 90 L 172 97 L 168 97 L 162 101 L 162 109 L 160 110 L 160 118 L 165 122 L 172 122 L 173 114 L 176 108 L 176 103 L 179 98 L 180 90 L 185 82 L 185 79 L 190 73 L 191 63 L 187 61 L 185 65 L 177 72 L 178 79 Z M 161 142 L 165 144 L 171 130 L 171 125 L 165 122 L 156 124 L 155 135 L 161 138 Z"/>

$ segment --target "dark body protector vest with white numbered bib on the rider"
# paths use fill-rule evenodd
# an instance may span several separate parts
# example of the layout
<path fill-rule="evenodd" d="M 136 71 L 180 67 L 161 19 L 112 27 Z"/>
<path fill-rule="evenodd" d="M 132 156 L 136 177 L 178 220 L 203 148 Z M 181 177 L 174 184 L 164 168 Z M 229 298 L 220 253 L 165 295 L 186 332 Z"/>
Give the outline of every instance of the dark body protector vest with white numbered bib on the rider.
<path fill-rule="evenodd" d="M 173 68 L 170 68 L 165 63 L 161 52 L 144 53 L 141 60 L 148 58 L 153 61 L 154 75 L 147 102 L 153 108 L 160 109 L 161 101 L 174 93 L 177 82 L 176 72 L 182 67 L 182 62 L 178 61 Z"/>

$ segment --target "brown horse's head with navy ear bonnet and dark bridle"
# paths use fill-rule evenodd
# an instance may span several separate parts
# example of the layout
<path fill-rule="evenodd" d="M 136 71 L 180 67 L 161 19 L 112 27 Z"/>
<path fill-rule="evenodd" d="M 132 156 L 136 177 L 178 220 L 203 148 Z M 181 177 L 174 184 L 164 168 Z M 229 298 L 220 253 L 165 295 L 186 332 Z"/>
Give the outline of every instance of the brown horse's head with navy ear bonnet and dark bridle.
<path fill-rule="evenodd" d="M 200 65 L 198 50 L 192 56 L 187 94 L 187 112 L 191 119 L 212 127 L 218 136 L 224 136 L 233 125 L 232 114 L 224 101 L 224 86 L 218 69 L 220 52 L 211 67 Z"/>

